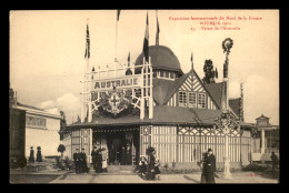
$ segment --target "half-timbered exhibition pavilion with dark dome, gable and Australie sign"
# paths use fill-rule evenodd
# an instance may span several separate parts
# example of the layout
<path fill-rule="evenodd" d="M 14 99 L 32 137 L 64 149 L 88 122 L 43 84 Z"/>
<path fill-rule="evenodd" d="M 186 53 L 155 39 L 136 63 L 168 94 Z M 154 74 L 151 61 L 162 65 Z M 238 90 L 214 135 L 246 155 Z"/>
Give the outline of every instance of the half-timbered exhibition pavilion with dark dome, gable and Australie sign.
<path fill-rule="evenodd" d="M 112 78 L 108 78 L 110 70 L 103 71 L 107 74 L 103 78 L 99 70 L 86 73 L 91 78 L 87 88 L 92 88 L 86 90 L 87 98 L 82 94 L 87 99 L 83 101 L 87 116 L 67 126 L 64 154 L 71 158 L 76 148 L 84 148 L 90 161 L 92 146 L 99 143 L 109 151 L 109 164 L 137 164 L 147 148 L 153 146 L 162 165 L 175 162 L 178 167 L 191 169 L 198 167 L 202 153 L 211 148 L 217 165 L 221 166 L 225 135 L 216 129 L 215 120 L 221 114 L 223 83 L 203 84 L 193 69 L 185 74 L 178 58 L 167 47 L 151 45 L 149 55 L 149 63 L 144 62 L 143 53 L 132 65 L 116 63 L 112 74 L 118 69 L 123 73 L 116 72 Z M 140 82 L 128 87 L 127 79 Z M 109 87 L 109 81 L 118 80 L 119 84 Z M 122 103 L 124 109 L 120 108 L 121 100 L 128 102 Z M 229 104 L 231 114 L 241 124 L 240 131 L 229 134 L 230 162 L 239 167 L 250 161 L 250 124 L 242 121 L 241 99 Z M 123 154 L 129 162 L 123 162 Z"/>

